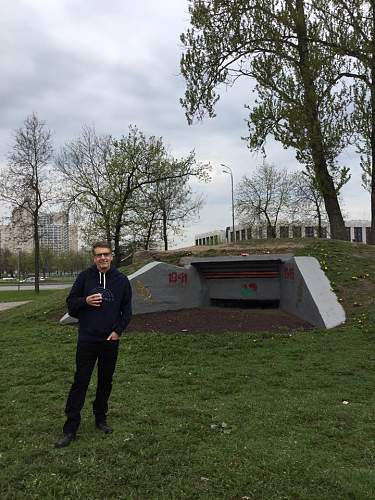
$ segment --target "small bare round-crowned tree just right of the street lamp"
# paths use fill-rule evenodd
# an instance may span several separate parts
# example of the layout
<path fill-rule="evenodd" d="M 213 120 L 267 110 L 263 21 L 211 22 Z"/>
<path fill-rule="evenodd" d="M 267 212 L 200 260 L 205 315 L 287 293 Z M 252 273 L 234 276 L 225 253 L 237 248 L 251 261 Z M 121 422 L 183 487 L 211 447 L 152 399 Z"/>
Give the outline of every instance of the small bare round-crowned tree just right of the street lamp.
<path fill-rule="evenodd" d="M 295 193 L 294 174 L 263 163 L 236 189 L 236 208 L 244 223 L 266 223 L 268 237 L 276 237 L 280 218 L 288 218 Z"/>

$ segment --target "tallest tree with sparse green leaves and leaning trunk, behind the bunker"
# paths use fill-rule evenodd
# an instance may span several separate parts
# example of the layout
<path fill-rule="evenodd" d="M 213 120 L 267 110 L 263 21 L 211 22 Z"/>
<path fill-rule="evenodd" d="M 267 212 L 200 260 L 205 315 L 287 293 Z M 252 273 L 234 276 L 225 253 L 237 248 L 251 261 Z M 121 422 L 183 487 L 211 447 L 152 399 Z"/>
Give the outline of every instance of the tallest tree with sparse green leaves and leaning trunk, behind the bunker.
<path fill-rule="evenodd" d="M 332 173 L 348 142 L 348 90 L 337 84 L 342 60 L 311 42 L 320 30 L 304 0 L 191 0 L 192 27 L 181 36 L 186 80 L 181 100 L 188 121 L 214 116 L 221 84 L 254 79 L 258 97 L 249 117 L 250 149 L 273 135 L 313 166 L 332 236 L 346 239 Z"/>

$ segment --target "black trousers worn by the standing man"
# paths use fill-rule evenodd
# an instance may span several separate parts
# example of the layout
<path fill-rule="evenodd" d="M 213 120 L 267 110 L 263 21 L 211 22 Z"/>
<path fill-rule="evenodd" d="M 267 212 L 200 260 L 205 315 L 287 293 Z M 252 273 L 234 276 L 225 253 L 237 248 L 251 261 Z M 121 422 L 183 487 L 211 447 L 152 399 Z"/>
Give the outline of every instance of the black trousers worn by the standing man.
<path fill-rule="evenodd" d="M 77 432 L 81 422 L 81 410 L 85 403 L 87 388 L 96 361 L 98 362 L 98 382 L 93 412 L 96 423 L 105 422 L 118 348 L 119 342 L 114 340 L 100 342 L 78 341 L 76 372 L 65 407 L 67 420 L 63 428 L 64 434 L 75 434 Z"/>

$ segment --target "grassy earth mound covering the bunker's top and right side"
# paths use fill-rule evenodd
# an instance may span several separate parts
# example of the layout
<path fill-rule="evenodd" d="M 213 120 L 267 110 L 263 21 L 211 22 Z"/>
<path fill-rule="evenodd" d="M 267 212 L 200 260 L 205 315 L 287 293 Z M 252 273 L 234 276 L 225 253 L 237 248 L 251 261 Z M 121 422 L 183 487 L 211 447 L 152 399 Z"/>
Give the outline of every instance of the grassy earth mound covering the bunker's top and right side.
<path fill-rule="evenodd" d="M 122 268 L 131 274 L 152 261 L 179 265 L 182 257 L 218 257 L 240 255 L 241 253 L 268 254 L 293 253 L 299 256 L 315 257 L 328 276 L 332 289 L 342 303 L 348 318 L 358 317 L 365 322 L 372 318 L 375 304 L 375 247 L 360 243 L 334 240 L 254 240 L 236 245 L 215 247 L 191 247 L 170 252 L 142 252 L 135 262 Z M 375 315 L 375 312 L 374 312 Z"/>

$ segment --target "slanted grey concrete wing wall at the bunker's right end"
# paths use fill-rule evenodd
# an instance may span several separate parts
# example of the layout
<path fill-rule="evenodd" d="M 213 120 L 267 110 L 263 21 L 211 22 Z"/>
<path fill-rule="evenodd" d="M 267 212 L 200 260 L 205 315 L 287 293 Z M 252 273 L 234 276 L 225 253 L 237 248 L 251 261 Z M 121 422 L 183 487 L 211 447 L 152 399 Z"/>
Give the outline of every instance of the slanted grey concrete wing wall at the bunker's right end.
<path fill-rule="evenodd" d="M 281 265 L 280 307 L 314 326 L 333 328 L 345 311 L 314 257 L 293 257 Z"/>

